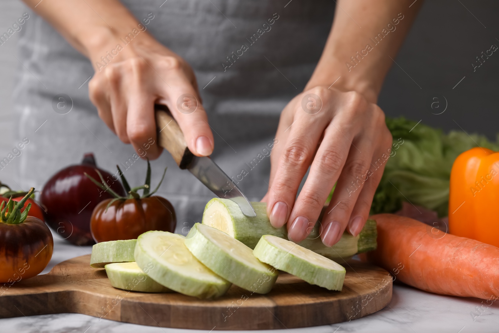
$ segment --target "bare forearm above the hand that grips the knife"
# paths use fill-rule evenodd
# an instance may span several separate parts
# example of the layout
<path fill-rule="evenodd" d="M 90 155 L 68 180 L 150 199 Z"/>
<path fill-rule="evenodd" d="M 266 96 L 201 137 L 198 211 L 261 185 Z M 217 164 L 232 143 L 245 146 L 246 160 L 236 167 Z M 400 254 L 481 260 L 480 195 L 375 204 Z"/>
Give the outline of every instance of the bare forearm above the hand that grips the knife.
<path fill-rule="evenodd" d="M 119 0 L 23 1 L 92 62 L 98 60 L 99 52 L 139 29 L 140 22 Z"/>

